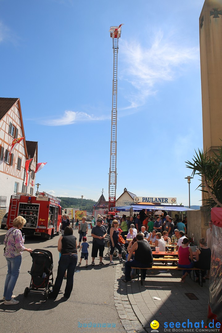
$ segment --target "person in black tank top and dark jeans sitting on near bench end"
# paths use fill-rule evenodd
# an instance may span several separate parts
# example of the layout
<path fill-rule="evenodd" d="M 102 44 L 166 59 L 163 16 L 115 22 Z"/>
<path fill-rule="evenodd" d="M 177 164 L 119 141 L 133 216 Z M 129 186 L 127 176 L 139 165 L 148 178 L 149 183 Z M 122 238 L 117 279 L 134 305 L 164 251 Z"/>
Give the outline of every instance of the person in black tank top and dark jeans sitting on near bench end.
<path fill-rule="evenodd" d="M 131 256 L 135 252 L 134 259 L 131 259 Z M 131 267 L 138 268 L 149 268 L 152 267 L 153 264 L 153 256 L 152 250 L 149 243 L 143 239 L 143 234 L 138 233 L 136 235 L 136 242 L 132 245 L 127 261 L 125 263 L 125 277 L 121 279 L 122 282 L 131 281 L 130 271 Z M 146 269 L 142 270 L 142 279 L 145 280 L 146 277 Z"/>

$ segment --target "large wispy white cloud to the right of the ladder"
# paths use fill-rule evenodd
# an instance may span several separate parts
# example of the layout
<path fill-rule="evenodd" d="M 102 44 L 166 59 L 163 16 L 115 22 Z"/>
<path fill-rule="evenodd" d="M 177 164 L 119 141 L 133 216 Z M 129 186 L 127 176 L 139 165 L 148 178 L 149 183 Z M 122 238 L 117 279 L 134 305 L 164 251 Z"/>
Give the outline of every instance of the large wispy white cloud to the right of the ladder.
<path fill-rule="evenodd" d="M 198 47 L 185 47 L 172 42 L 176 37 L 156 33 L 148 48 L 138 41 L 122 41 L 121 52 L 124 54 L 124 70 L 120 78 L 134 88 L 128 94 L 130 107 L 143 105 L 146 98 L 156 93 L 157 84 L 172 81 L 186 70 L 186 64 L 197 61 Z"/>

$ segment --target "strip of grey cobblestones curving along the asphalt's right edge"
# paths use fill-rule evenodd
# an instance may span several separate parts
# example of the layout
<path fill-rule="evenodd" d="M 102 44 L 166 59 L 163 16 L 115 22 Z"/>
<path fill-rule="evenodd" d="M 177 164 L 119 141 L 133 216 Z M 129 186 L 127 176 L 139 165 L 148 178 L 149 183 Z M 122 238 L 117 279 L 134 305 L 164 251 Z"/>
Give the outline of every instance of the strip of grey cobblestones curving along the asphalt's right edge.
<path fill-rule="evenodd" d="M 143 318 L 141 318 L 141 316 L 139 316 L 139 314 L 141 314 L 140 311 L 136 311 L 138 306 L 136 305 L 136 301 L 131 294 L 131 284 L 127 285 L 126 283 L 120 281 L 120 278 L 123 275 L 124 267 L 122 265 L 116 265 L 113 295 L 115 308 L 118 312 L 121 324 L 127 333 L 132 333 L 137 330 L 144 330 L 145 332 L 148 332 L 146 328 L 141 325 L 145 324 L 145 318 L 143 316 Z"/>

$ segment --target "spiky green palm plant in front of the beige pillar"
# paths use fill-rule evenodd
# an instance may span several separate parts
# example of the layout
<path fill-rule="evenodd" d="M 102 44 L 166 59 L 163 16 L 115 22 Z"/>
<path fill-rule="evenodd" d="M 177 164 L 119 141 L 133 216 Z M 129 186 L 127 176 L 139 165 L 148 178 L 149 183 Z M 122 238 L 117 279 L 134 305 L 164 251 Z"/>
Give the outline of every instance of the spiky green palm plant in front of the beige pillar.
<path fill-rule="evenodd" d="M 212 156 L 208 156 L 198 149 L 193 162 L 187 161 L 186 167 L 192 169 L 192 175 L 201 176 L 200 185 L 197 187 L 200 191 L 208 193 L 209 197 L 203 199 L 208 209 L 215 206 L 222 207 L 222 147 L 213 151 Z M 199 188 L 200 187 L 200 188 Z"/>

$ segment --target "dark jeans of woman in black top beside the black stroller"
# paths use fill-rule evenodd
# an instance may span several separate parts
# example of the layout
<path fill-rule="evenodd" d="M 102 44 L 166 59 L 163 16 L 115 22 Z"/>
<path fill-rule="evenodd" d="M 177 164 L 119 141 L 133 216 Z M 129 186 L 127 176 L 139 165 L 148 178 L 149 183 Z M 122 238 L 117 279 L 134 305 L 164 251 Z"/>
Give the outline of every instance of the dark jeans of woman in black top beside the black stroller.
<path fill-rule="evenodd" d="M 63 283 L 63 278 L 67 270 L 67 280 L 65 288 L 65 297 L 69 298 L 73 290 L 73 275 L 77 265 L 78 255 L 77 254 L 64 254 L 59 259 L 59 266 L 56 281 L 53 287 L 53 291 L 49 294 L 49 298 L 56 298 L 59 294 L 60 288 Z"/>

